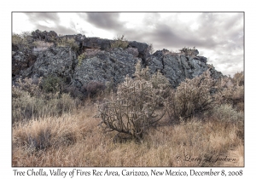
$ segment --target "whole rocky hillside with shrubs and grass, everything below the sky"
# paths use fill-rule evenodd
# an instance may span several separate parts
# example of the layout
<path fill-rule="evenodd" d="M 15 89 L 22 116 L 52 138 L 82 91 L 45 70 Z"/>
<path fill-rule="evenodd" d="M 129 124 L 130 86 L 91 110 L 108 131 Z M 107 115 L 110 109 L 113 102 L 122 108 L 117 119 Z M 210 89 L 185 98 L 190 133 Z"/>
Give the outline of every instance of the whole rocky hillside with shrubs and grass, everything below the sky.
<path fill-rule="evenodd" d="M 127 41 L 12 38 L 13 166 L 243 166 L 244 73 Z"/>

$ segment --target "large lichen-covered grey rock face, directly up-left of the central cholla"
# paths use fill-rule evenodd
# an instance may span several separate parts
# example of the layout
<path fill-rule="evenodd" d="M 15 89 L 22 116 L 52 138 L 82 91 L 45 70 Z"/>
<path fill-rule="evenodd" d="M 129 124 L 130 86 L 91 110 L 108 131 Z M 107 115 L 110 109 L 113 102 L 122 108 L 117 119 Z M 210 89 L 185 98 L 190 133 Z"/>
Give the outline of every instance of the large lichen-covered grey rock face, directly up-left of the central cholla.
<path fill-rule="evenodd" d="M 126 74 L 131 76 L 135 72 L 138 60 L 125 50 L 102 50 L 91 58 L 84 58 L 81 65 L 76 66 L 73 84 L 81 87 L 93 80 L 104 84 L 110 80 L 114 84 L 122 83 Z"/>

